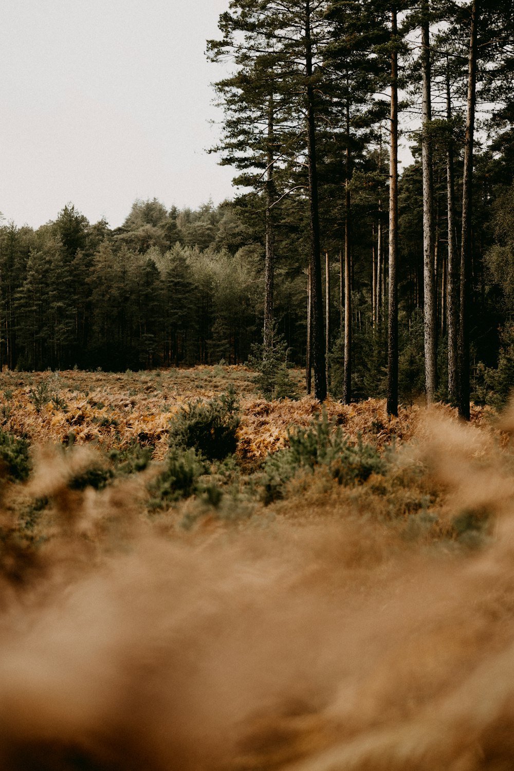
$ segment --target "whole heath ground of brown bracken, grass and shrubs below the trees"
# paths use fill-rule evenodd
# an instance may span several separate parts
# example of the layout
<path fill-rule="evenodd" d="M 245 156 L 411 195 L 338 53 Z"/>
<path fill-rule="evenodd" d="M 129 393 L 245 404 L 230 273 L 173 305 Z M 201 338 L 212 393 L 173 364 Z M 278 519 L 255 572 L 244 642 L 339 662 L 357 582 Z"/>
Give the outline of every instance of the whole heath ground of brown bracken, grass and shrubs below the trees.
<path fill-rule="evenodd" d="M 512 768 L 514 412 L 252 379 L 1 375 L 0 768 Z"/>

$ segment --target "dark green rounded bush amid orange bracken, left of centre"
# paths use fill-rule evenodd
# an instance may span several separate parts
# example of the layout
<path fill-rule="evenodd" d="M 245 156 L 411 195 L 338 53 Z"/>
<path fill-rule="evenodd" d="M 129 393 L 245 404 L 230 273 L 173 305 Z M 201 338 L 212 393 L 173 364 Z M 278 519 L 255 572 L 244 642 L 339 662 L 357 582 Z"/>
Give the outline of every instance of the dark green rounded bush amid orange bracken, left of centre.
<path fill-rule="evenodd" d="M 235 453 L 239 405 L 233 385 L 226 394 L 202 402 L 187 402 L 170 424 L 170 446 L 193 448 L 208 460 Z"/>

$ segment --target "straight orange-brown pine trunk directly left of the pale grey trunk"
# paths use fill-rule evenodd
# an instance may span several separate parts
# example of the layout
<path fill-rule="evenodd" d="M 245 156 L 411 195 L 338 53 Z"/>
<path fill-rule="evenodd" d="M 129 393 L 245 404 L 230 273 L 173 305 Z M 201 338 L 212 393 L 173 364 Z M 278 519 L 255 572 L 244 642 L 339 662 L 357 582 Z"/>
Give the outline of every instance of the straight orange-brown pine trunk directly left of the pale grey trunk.
<path fill-rule="evenodd" d="M 398 416 L 398 27 L 391 9 L 391 150 L 389 155 L 388 415 Z"/>

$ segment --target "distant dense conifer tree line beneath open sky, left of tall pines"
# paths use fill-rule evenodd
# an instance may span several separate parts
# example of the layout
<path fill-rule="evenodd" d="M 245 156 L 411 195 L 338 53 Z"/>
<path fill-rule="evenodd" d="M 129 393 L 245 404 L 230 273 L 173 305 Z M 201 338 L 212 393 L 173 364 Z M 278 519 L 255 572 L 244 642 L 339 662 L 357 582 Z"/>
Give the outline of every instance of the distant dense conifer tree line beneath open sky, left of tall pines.
<path fill-rule="evenodd" d="M 246 359 L 262 326 L 259 247 L 231 204 L 136 200 L 122 227 L 72 204 L 0 227 L 0 364 L 140 369 Z"/>

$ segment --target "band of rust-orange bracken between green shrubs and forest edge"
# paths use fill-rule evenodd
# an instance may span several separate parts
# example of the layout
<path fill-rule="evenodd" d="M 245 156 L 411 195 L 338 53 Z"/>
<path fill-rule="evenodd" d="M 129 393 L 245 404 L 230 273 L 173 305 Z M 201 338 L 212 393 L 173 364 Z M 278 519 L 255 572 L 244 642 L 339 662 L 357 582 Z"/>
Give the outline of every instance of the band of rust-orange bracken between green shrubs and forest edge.
<path fill-rule="evenodd" d="M 290 426 L 307 426 L 319 412 L 312 396 L 298 401 L 283 399 L 267 402 L 255 395 L 253 373 L 244 366 L 199 366 L 194 369 L 168 369 L 153 372 L 38 372 L 3 373 L 2 392 L 10 414 L 2 421 L 17 436 L 27 435 L 35 443 L 64 443 L 69 433 L 78 444 L 96 441 L 104 449 L 126 446 L 134 440 L 155 447 L 153 457 L 162 460 L 167 450 L 170 418 L 189 399 L 211 399 L 232 384 L 240 397 L 242 420 L 239 431 L 241 456 L 263 458 L 283 447 Z M 303 373 L 294 371 L 299 392 L 304 393 Z M 49 394 L 56 394 L 67 405 L 66 412 L 49 399 L 37 412 L 30 392 L 46 383 Z M 302 391 L 303 389 L 303 391 Z M 5 399 L 9 392 L 9 399 Z M 345 406 L 328 399 L 328 417 L 344 426 L 351 436 L 361 432 L 378 446 L 395 437 L 411 439 L 423 410 L 418 406 L 400 407 L 398 418 L 389 419 L 384 399 L 368 399 Z M 437 406 L 448 419 L 456 421 L 456 411 Z M 492 412 L 472 409 L 472 424 L 489 426 Z"/>

